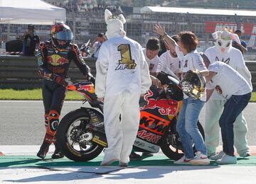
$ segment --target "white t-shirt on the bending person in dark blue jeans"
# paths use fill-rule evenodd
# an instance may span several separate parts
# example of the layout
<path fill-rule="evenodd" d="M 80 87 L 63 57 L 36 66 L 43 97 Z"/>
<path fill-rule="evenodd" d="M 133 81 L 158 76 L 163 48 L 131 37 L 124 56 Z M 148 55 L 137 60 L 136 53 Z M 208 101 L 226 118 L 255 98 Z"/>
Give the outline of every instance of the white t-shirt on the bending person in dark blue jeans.
<path fill-rule="evenodd" d="M 250 84 L 247 83 L 238 71 L 235 71 L 232 67 L 224 62 L 213 62 L 208 67 L 208 71 L 214 71 L 217 74 L 211 79 L 211 89 L 215 86 L 220 86 L 220 96 L 228 100 L 231 96 L 245 95 L 250 93 L 252 90 Z"/>

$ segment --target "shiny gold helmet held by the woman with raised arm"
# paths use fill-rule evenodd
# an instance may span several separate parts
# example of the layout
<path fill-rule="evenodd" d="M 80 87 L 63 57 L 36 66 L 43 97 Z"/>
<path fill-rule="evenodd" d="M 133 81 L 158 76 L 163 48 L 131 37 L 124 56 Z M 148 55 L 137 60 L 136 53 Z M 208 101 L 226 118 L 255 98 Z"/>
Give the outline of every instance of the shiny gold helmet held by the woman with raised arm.
<path fill-rule="evenodd" d="M 206 81 L 202 74 L 196 69 L 187 71 L 181 81 L 183 93 L 194 99 L 200 99 L 206 89 Z"/>

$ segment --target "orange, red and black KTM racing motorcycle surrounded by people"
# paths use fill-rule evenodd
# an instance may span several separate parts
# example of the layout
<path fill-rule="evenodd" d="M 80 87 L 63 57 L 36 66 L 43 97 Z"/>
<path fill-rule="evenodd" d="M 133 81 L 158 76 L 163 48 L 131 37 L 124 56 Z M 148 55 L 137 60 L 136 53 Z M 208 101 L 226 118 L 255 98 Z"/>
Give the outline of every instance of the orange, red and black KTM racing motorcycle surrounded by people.
<path fill-rule="evenodd" d="M 175 76 L 161 72 L 158 78 L 164 88 L 151 86 L 139 101 L 141 116 L 133 150 L 157 153 L 161 149 L 170 159 L 177 160 L 183 156 L 181 140 L 176 132 L 183 91 Z M 68 90 L 80 93 L 89 107 L 73 110 L 63 117 L 57 131 L 58 146 L 68 159 L 90 161 L 107 147 L 103 103 L 97 100 L 90 81 L 71 84 Z M 204 137 L 200 122 L 198 129 Z"/>

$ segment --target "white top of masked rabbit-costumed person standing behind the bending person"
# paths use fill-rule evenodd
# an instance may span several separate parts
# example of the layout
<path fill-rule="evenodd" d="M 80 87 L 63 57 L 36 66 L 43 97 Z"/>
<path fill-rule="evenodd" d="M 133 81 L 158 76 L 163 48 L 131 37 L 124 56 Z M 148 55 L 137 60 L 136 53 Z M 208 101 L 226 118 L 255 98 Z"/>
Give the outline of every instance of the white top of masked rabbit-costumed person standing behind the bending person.
<path fill-rule="evenodd" d="M 236 71 L 239 71 L 239 69 L 244 69 L 246 67 L 245 60 L 242 57 L 242 53 L 240 50 L 235 49 L 234 47 L 230 47 L 230 51 L 223 54 L 218 50 L 218 47 L 213 46 L 210 47 L 204 52 L 208 59 L 210 60 L 210 63 L 213 62 L 225 62 L 225 64 L 228 64 L 230 67 L 235 69 Z M 245 76 L 244 76 L 245 77 Z M 250 79 L 248 79 L 250 81 Z M 223 100 L 223 98 L 214 91 L 212 96 L 210 97 L 210 100 Z"/>

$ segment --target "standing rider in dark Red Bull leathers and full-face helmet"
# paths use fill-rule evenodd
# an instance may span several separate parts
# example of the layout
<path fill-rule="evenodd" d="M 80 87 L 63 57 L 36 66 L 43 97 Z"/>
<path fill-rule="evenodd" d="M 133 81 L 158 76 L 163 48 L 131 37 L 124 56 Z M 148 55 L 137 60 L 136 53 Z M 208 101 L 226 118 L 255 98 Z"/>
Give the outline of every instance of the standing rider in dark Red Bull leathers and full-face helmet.
<path fill-rule="evenodd" d="M 68 69 L 74 61 L 85 79 L 90 79 L 90 68 L 82 59 L 77 45 L 70 43 L 73 33 L 64 23 L 55 23 L 50 32 L 51 39 L 42 42 L 38 50 L 39 75 L 43 77 L 43 105 L 45 108 L 46 136 L 37 156 L 46 157 L 50 144 L 55 144 L 53 159 L 63 157 L 56 144 L 55 134 L 59 124 L 60 111 L 68 85 Z"/>

